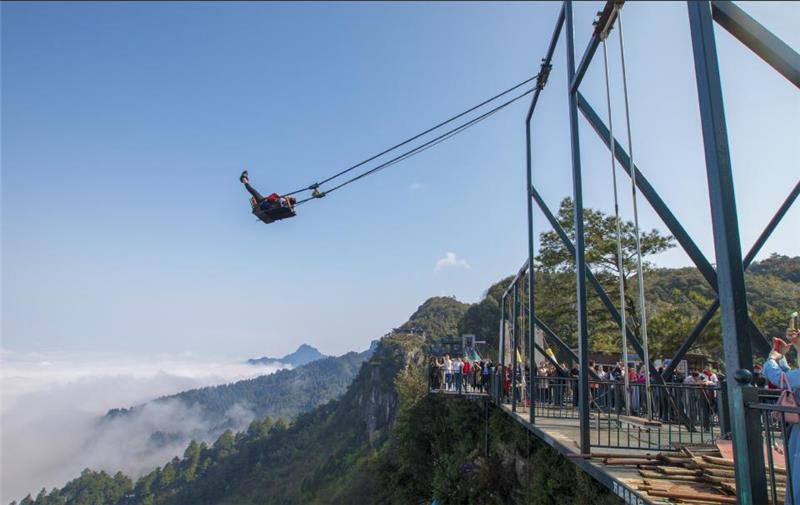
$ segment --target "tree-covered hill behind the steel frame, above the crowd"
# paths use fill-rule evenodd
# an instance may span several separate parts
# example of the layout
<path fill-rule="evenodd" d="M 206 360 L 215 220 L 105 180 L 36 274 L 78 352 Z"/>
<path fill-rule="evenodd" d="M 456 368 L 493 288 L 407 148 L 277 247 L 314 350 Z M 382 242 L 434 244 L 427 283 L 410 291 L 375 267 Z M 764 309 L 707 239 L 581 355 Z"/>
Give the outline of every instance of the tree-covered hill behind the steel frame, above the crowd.
<path fill-rule="evenodd" d="M 700 273 L 690 267 L 654 268 L 645 270 L 645 300 L 648 314 L 648 334 L 651 356 L 668 358 L 692 331 L 697 321 L 711 306 L 716 294 Z M 602 278 L 598 275 L 599 278 Z M 748 303 L 753 320 L 767 336 L 782 335 L 789 314 L 800 309 L 800 256 L 788 257 L 773 254 L 755 262 L 746 273 Z M 472 305 L 459 321 L 460 333 L 474 333 L 478 340 L 486 340 L 486 352 L 497 354 L 500 297 L 511 278 L 491 286 L 480 303 Z M 575 327 L 575 300 L 571 290 L 575 285 L 572 271 L 555 271 L 539 267 L 535 272 L 536 315 L 568 344 L 577 347 Z M 606 281 L 606 291 L 615 305 L 619 305 L 616 278 Z M 638 290 L 635 279 L 630 281 L 626 293 Z M 631 295 L 628 295 L 631 297 Z M 527 303 L 523 295 L 523 303 Z M 638 307 L 638 299 L 631 303 Z M 594 350 L 619 352 L 619 327 L 613 323 L 594 291 L 588 291 L 589 340 Z M 629 312 L 630 327 L 638 332 Z M 714 359 L 722 358 L 722 332 L 719 313 L 700 335 L 692 352 L 703 353 Z"/>

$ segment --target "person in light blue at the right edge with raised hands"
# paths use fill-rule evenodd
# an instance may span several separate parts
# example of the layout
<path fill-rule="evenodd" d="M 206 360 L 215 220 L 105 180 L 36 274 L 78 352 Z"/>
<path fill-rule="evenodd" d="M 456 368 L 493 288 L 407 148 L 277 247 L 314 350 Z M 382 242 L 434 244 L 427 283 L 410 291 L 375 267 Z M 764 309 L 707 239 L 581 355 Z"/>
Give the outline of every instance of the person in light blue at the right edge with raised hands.
<path fill-rule="evenodd" d="M 767 361 L 764 363 L 764 375 L 773 384 L 781 384 L 781 376 L 785 374 L 789 387 L 792 388 L 795 401 L 800 405 L 800 369 L 792 369 L 786 361 L 786 353 L 794 347 L 800 353 L 800 331 L 787 330 L 786 336 L 791 343 L 781 345 L 779 349 L 769 353 Z M 792 468 L 792 495 L 786 493 L 786 503 L 800 504 L 800 426 L 794 423 L 788 424 L 789 430 L 789 465 Z M 790 501 L 791 499 L 791 501 Z"/>

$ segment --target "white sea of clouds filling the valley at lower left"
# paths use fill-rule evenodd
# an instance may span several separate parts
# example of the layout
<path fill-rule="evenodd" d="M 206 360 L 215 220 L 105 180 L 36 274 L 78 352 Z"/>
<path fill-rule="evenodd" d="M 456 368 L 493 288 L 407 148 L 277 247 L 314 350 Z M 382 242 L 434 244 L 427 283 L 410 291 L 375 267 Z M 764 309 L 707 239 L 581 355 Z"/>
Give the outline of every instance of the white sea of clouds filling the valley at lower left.
<path fill-rule="evenodd" d="M 162 395 L 272 373 L 191 354 L 39 354 L 0 351 L 0 502 L 61 487 L 84 468 L 136 478 L 183 454 L 185 440 L 155 446 L 155 431 L 210 438 L 202 412 L 180 402 L 150 403 L 136 415 L 100 422 L 111 409 Z M 227 417 L 253 419 L 243 405 Z"/>

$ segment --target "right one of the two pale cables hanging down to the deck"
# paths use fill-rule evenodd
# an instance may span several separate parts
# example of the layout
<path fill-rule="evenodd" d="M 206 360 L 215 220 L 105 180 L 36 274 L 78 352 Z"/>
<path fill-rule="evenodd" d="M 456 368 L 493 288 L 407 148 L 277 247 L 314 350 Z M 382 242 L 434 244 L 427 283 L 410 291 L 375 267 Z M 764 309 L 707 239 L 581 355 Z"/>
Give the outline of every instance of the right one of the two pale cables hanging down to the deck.
<path fill-rule="evenodd" d="M 639 236 L 639 209 L 636 193 L 636 165 L 633 163 L 633 137 L 631 135 L 631 114 L 628 103 L 628 77 L 625 72 L 625 43 L 622 36 L 622 13 L 617 13 L 619 24 L 619 52 L 622 63 L 622 89 L 625 97 L 625 124 L 628 130 L 628 158 L 631 169 L 631 196 L 633 199 L 633 227 L 636 236 L 636 275 L 639 284 L 639 315 L 641 317 L 642 348 L 644 350 L 645 389 L 647 391 L 647 417 L 652 418 L 650 390 L 650 351 L 647 344 L 647 308 L 644 298 L 644 268 L 642 266 L 642 243 Z"/>

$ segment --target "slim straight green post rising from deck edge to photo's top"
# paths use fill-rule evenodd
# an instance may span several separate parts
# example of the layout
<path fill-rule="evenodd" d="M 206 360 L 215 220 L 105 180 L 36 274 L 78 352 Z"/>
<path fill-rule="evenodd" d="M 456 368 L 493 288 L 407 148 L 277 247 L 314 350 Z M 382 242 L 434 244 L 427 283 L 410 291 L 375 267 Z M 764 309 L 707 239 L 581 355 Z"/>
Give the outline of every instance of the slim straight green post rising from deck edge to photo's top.
<path fill-rule="evenodd" d="M 564 4 L 567 38 L 567 82 L 575 81 L 575 27 L 573 25 L 572 1 Z M 575 205 L 575 276 L 576 302 L 578 316 L 578 358 L 580 375 L 578 379 L 578 406 L 580 410 L 580 451 L 591 452 L 589 435 L 589 333 L 586 317 L 586 251 L 583 236 L 583 186 L 581 183 L 581 146 L 578 136 L 577 93 L 569 91 L 569 130 L 572 150 L 572 188 Z"/>

